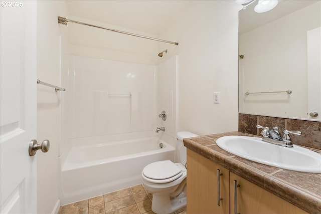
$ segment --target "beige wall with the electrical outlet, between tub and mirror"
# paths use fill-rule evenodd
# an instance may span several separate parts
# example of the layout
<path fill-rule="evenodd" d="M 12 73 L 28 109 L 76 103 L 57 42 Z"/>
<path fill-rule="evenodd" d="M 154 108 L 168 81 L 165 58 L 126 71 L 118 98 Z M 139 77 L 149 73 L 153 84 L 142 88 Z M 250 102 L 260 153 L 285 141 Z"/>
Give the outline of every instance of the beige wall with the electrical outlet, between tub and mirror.
<path fill-rule="evenodd" d="M 179 55 L 179 130 L 200 135 L 238 128 L 238 10 L 234 1 L 193 1 L 160 38 Z M 221 103 L 214 104 L 213 93 Z"/>

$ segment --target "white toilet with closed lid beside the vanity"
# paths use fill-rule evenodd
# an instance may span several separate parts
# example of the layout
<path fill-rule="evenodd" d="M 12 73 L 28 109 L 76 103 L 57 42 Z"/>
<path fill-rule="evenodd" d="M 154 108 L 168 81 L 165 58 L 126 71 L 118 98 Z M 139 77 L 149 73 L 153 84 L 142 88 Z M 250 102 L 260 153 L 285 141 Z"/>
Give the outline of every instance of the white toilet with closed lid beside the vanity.
<path fill-rule="evenodd" d="M 186 205 L 186 147 L 184 138 L 197 137 L 191 132 L 177 133 L 180 162 L 170 160 L 148 164 L 141 172 L 143 186 L 152 193 L 151 210 L 157 214 L 174 212 Z"/>

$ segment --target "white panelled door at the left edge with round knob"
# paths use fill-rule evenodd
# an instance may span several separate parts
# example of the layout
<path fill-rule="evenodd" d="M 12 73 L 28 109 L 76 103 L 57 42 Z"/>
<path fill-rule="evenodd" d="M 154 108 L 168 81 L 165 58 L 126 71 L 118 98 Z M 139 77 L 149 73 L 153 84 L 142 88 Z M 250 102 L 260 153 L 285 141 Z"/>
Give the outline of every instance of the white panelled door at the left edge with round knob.
<path fill-rule="evenodd" d="M 1 1 L 1 213 L 37 212 L 36 18 L 36 1 Z"/>

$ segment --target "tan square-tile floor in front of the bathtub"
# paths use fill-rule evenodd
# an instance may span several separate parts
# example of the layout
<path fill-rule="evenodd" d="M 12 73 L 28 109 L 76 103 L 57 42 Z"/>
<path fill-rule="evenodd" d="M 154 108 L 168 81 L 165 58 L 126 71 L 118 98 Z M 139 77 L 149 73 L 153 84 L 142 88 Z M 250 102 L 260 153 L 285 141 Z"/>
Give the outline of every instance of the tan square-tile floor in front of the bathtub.
<path fill-rule="evenodd" d="M 151 199 L 152 194 L 140 184 L 61 206 L 58 214 L 153 214 Z M 186 207 L 173 212 L 186 213 Z"/>

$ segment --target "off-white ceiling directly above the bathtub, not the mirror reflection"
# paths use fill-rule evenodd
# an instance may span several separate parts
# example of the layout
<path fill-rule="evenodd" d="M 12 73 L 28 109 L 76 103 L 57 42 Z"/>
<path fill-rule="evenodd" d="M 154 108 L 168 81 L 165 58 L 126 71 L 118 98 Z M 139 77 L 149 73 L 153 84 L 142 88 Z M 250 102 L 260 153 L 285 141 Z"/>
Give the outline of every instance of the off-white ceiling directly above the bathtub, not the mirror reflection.
<path fill-rule="evenodd" d="M 71 16 L 159 35 L 191 1 L 67 1 Z"/>

